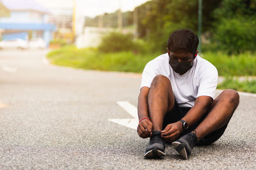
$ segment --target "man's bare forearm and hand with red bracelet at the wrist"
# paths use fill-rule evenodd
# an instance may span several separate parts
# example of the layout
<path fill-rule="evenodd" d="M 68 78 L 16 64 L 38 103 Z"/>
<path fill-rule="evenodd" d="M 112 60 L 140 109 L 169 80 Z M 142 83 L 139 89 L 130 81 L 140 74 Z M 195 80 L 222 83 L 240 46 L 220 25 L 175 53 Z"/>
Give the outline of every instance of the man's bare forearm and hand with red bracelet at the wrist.
<path fill-rule="evenodd" d="M 148 92 L 149 87 L 142 87 L 138 99 L 138 117 L 143 119 L 138 125 L 137 132 L 141 138 L 148 138 L 152 134 L 153 124 L 148 120 Z"/>

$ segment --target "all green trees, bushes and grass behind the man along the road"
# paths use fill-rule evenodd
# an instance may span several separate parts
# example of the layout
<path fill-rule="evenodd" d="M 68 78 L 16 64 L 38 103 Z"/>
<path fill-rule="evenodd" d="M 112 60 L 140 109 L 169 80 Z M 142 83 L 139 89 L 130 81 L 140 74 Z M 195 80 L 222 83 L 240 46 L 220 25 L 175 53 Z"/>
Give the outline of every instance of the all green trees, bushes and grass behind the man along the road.
<path fill-rule="evenodd" d="M 220 89 L 255 92 L 255 81 L 237 76 L 256 76 L 256 0 L 216 0 L 203 3 L 201 57 L 209 60 L 225 81 Z M 185 8 L 186 7 L 186 8 Z M 170 10 L 172 9 L 172 10 Z M 97 48 L 61 46 L 48 54 L 52 64 L 102 71 L 141 73 L 149 60 L 166 52 L 170 33 L 179 28 L 197 31 L 198 1 L 152 0 L 138 12 L 138 39 L 110 32 Z M 115 13 L 103 15 L 104 27 L 117 27 Z M 134 11 L 123 13 L 123 27 L 131 27 Z M 87 18 L 85 26 L 97 26 L 99 17 Z M 102 17 L 102 16 L 101 16 Z"/>

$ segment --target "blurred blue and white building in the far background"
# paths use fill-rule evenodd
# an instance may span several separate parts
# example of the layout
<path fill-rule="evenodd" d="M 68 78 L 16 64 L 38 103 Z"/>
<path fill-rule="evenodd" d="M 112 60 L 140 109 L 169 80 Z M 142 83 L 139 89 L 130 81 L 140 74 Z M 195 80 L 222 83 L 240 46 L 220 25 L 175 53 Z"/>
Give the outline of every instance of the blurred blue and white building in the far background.
<path fill-rule="evenodd" d="M 49 23 L 49 10 L 34 0 L 0 0 L 9 17 L 0 17 L 1 39 L 42 38 L 49 45 L 56 25 Z"/>

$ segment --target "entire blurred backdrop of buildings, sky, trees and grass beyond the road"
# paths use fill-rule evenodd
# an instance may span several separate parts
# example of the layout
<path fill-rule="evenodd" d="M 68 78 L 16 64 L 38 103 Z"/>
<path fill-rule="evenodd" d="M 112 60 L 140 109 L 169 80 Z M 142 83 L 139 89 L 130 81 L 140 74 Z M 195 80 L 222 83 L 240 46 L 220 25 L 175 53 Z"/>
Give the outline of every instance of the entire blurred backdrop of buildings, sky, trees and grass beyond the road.
<path fill-rule="evenodd" d="M 46 48 L 60 66 L 141 73 L 182 28 L 218 88 L 256 93 L 256 0 L 0 0 L 0 50 Z"/>

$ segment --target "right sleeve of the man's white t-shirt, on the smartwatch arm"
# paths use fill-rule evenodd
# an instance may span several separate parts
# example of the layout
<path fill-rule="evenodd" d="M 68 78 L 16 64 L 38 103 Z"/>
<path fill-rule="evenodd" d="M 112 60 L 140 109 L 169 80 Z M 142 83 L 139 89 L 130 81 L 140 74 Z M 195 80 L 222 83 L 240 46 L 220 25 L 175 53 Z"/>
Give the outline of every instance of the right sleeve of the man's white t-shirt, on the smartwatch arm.
<path fill-rule="evenodd" d="M 209 96 L 214 99 L 217 84 L 218 71 L 216 67 L 212 66 L 211 69 L 208 67 L 207 70 L 202 71 L 196 97 Z"/>

